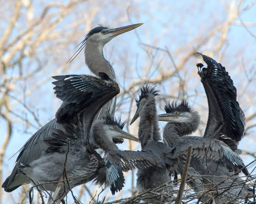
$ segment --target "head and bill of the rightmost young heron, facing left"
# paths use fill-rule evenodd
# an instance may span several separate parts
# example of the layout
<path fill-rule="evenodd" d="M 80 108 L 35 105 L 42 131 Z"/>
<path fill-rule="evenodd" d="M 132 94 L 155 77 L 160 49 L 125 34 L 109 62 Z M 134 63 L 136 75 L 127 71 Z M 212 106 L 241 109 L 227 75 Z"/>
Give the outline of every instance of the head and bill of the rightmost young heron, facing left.
<path fill-rule="evenodd" d="M 158 121 L 186 123 L 192 118 L 192 109 L 186 100 L 180 103 L 177 101 L 167 102 L 164 109 L 166 113 L 157 115 Z"/>

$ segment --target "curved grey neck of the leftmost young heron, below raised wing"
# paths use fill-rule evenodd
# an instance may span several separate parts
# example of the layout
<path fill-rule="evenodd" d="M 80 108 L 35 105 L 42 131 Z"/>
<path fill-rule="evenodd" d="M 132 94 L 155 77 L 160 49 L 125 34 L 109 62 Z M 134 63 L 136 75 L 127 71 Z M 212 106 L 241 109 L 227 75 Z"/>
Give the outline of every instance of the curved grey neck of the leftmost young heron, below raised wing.
<path fill-rule="evenodd" d="M 119 150 L 116 144 L 113 143 L 112 139 L 106 135 L 102 121 L 96 121 L 93 123 L 90 136 L 92 137 L 93 146 L 99 146 L 99 148 L 103 149 L 105 152 Z"/>

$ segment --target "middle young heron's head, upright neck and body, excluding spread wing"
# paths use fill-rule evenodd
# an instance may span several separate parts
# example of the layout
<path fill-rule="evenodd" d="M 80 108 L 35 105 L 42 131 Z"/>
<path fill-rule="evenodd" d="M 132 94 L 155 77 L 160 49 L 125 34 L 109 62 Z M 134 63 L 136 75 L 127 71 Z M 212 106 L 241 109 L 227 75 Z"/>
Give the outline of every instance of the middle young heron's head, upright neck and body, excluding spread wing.
<path fill-rule="evenodd" d="M 153 151 L 165 161 L 163 167 L 148 167 L 140 169 L 137 172 L 137 190 L 139 192 L 148 188 L 159 187 L 168 181 L 171 181 L 168 173 L 175 167 L 178 160 L 172 157 L 166 158 L 171 150 L 160 142 L 160 128 L 157 121 L 157 108 L 155 96 L 159 95 L 155 88 L 148 85 L 140 89 L 140 97 L 136 100 L 137 110 L 131 124 L 140 117 L 138 137 L 141 143 L 142 151 Z M 172 154 L 171 154 L 172 155 Z"/>

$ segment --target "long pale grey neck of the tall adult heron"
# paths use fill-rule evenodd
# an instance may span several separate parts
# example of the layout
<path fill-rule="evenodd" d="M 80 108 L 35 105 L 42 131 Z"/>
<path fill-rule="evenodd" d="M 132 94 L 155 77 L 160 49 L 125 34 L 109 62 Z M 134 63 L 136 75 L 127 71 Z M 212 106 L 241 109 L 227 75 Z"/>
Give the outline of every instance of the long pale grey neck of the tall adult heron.
<path fill-rule="evenodd" d="M 116 75 L 109 63 L 103 55 L 103 46 L 99 43 L 87 40 L 84 49 L 85 63 L 93 74 L 98 76 L 99 72 L 105 72 L 110 78 L 116 80 Z"/>

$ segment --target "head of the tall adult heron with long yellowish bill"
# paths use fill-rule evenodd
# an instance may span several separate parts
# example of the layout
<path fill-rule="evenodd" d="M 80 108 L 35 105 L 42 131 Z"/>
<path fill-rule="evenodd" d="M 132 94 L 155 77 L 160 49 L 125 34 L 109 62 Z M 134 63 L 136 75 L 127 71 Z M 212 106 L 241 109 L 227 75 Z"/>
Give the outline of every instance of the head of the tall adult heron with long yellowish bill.
<path fill-rule="evenodd" d="M 103 48 L 105 44 L 108 43 L 110 40 L 112 40 L 114 37 L 118 36 L 119 34 L 136 29 L 142 24 L 143 23 L 137 23 L 137 24 L 122 26 L 114 29 L 108 26 L 100 25 L 90 30 L 90 32 L 88 32 L 88 34 L 86 35 L 84 41 L 86 41 L 87 43 L 91 42 L 94 44 L 98 44 L 101 48 Z"/>

